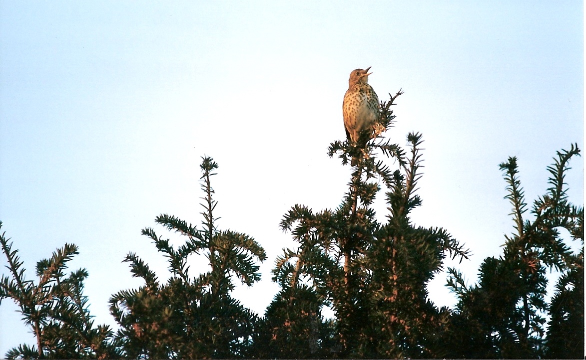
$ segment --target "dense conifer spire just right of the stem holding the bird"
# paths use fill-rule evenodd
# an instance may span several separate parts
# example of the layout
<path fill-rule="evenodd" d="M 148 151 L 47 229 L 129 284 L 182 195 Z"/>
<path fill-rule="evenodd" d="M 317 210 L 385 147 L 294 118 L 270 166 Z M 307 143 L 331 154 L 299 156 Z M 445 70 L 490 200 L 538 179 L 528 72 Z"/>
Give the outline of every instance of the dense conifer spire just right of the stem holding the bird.
<path fill-rule="evenodd" d="M 444 229 L 416 227 L 410 212 L 422 203 L 415 194 L 421 178 L 420 134 L 408 134 L 410 155 L 400 154 L 386 193 L 387 223 L 374 233 L 367 252 L 369 324 L 365 347 L 383 358 L 443 358 L 438 341 L 449 310 L 428 297 L 427 283 L 443 268 L 445 257 L 465 259 L 469 252 Z"/>

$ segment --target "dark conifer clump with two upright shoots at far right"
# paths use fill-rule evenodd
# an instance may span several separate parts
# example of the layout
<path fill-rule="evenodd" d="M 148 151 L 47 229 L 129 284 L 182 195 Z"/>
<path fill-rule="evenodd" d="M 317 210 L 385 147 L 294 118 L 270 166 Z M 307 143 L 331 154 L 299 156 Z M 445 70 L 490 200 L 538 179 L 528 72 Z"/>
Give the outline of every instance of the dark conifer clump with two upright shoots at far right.
<path fill-rule="evenodd" d="M 513 206 L 512 212 L 516 233 L 506 236 L 505 250 L 499 258 L 489 257 L 483 262 L 478 285 L 466 286 L 462 274 L 449 269 L 451 277 L 448 285 L 458 295 L 459 302 L 448 326 L 448 356 L 454 358 L 537 358 L 544 356 L 543 314 L 548 309 L 552 312 L 554 337 L 549 342 L 550 354 L 560 355 L 559 336 L 563 333 L 556 328 L 568 324 L 568 319 L 556 316 L 555 304 L 560 303 L 564 292 L 560 286 L 565 281 L 577 276 L 580 278 L 580 266 L 583 258 L 575 257 L 564 243 L 557 230 L 563 227 L 581 238 L 584 244 L 583 223 L 584 209 L 568 202 L 567 188 L 564 182 L 569 169 L 568 161 L 580 153 L 577 146 L 569 151 L 558 151 L 554 164 L 547 168 L 551 176 L 550 188 L 533 203 L 533 221 L 526 219 L 523 189 L 517 177 L 517 160 L 510 157 L 500 164 L 505 171 L 507 195 Z M 581 265 L 582 264 L 582 265 Z M 546 270 L 554 268 L 566 272 L 558 285 L 558 296 L 554 297 L 554 307 L 547 306 Z M 583 283 L 583 270 L 581 273 Z M 575 282 L 579 283 L 578 279 Z M 575 297 L 578 293 L 574 293 Z M 581 303 L 581 305 L 580 305 Z M 570 303 L 574 313 L 569 321 L 574 324 L 574 331 L 584 337 L 584 297 Z M 579 307 L 579 309 L 578 309 Z M 575 327 L 581 319 L 579 328 Z M 557 340 L 556 340 L 557 338 Z M 575 342 L 575 338 L 572 337 Z M 579 350 L 583 354 L 582 349 Z M 574 352 L 573 354 L 577 354 Z M 582 356 L 582 355 L 580 355 Z M 557 356 L 556 356 L 557 357 Z"/>

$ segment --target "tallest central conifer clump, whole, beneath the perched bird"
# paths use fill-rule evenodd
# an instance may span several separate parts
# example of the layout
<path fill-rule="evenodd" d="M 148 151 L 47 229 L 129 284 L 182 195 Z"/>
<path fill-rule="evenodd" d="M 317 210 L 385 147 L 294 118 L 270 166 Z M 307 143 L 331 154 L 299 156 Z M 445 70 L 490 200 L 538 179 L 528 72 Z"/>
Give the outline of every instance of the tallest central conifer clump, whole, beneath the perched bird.
<path fill-rule="evenodd" d="M 421 176 L 421 136 L 408 135 L 410 157 L 380 136 L 393 124 L 390 106 L 400 94 L 381 103 L 374 138 L 357 141 L 365 143 L 364 147 L 349 141 L 331 144 L 329 155 L 338 154 L 342 164 L 356 159 L 342 204 L 321 212 L 295 205 L 281 222 L 299 245 L 296 250 L 284 250 L 277 259 L 275 280 L 289 296 L 291 292 L 297 292 L 292 296 L 310 293 L 319 299 L 320 307 L 332 307 L 336 317 L 333 337 L 322 338 L 320 344 L 321 354 L 329 352 L 334 358 L 436 354 L 433 337 L 448 314 L 447 309 L 437 309 L 430 302 L 426 283 L 441 269 L 446 254 L 468 255 L 445 230 L 411 224 L 409 213 L 421 204 L 415 195 Z M 398 169 L 391 170 L 375 153 L 393 157 Z M 385 224 L 376 220 L 372 209 L 380 191 L 379 182 L 373 179 L 380 179 L 389 189 L 390 214 Z M 280 301 L 277 297 L 273 304 Z M 301 311 L 295 306 L 287 310 L 289 319 L 299 317 Z M 280 320 L 291 323 L 285 317 Z M 303 336 L 302 342 L 309 344 L 309 334 Z M 279 341 L 277 331 L 272 338 Z"/>

